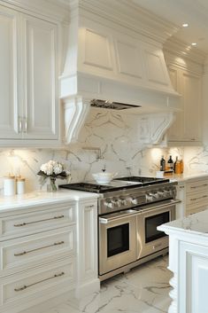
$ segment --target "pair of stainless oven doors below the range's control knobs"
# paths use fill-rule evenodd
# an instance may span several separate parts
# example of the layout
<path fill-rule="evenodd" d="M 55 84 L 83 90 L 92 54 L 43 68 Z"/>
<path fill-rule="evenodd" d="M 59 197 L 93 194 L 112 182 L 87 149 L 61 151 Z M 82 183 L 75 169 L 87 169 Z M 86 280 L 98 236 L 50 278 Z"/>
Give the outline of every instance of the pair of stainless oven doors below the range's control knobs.
<path fill-rule="evenodd" d="M 175 219 L 177 200 L 99 217 L 99 275 L 109 278 L 166 254 L 168 239 L 157 227 Z"/>

